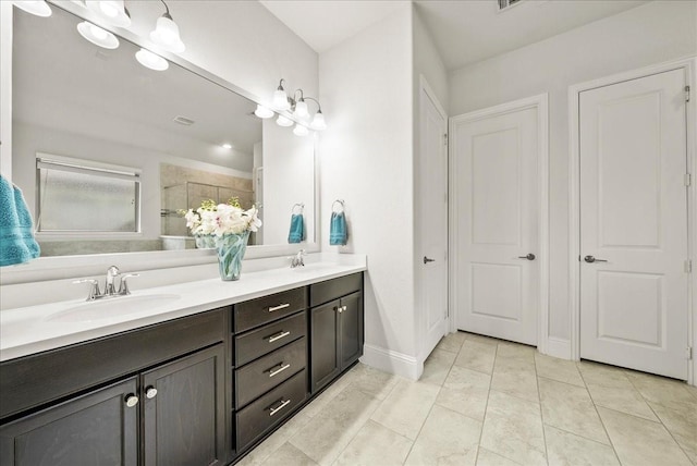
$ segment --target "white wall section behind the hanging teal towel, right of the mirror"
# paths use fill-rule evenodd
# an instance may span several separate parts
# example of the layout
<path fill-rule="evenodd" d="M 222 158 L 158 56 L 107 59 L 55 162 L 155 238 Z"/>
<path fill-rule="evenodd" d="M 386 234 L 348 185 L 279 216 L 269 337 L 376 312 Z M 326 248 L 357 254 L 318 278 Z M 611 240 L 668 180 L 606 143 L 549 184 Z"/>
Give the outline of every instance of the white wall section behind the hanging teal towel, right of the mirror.
<path fill-rule="evenodd" d="M 415 377 L 412 7 L 319 57 L 322 252 L 334 199 L 367 254 L 364 360 Z M 393 353 L 389 353 L 391 351 Z"/>

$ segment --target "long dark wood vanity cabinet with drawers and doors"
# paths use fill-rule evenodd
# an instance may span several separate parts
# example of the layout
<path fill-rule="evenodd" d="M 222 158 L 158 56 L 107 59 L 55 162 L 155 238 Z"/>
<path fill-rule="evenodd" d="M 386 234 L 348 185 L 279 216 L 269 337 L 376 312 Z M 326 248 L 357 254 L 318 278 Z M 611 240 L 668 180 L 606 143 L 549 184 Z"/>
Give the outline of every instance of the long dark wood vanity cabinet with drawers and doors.
<path fill-rule="evenodd" d="M 365 268 L 343 269 L 3 360 L 0 465 L 235 462 L 363 354 Z"/>

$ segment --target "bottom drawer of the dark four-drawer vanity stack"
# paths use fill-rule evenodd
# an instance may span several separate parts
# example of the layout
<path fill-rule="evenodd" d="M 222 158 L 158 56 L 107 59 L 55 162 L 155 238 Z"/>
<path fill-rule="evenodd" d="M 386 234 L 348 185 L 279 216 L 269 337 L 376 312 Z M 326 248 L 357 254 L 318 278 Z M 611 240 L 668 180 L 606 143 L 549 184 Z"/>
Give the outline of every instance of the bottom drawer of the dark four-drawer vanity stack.
<path fill-rule="evenodd" d="M 295 376 L 237 413 L 237 451 L 288 417 L 307 396 L 307 375 Z M 240 428 L 242 426 L 242 428 Z"/>

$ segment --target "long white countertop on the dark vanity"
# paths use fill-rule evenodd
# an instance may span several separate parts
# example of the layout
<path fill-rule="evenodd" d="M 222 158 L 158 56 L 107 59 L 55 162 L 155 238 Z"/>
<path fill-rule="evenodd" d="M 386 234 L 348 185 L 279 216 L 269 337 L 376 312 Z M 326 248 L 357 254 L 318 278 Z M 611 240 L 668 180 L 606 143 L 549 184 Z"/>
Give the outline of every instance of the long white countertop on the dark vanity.
<path fill-rule="evenodd" d="M 315 262 L 306 267 L 288 267 L 242 273 L 239 281 L 223 282 L 219 278 L 197 280 L 146 290 L 132 290 L 130 296 L 95 302 L 84 298 L 5 309 L 0 312 L 0 360 L 53 350 L 87 340 L 106 336 L 139 327 L 191 316 L 243 301 L 292 290 L 310 283 L 366 270 L 364 260 L 355 263 Z M 132 285 L 133 286 L 133 285 Z M 36 287 L 41 293 L 40 284 Z M 119 302 L 119 299 L 123 299 Z M 142 310 L 129 309 L 131 303 L 148 303 Z M 107 304 L 109 303 L 109 304 Z M 123 303 L 123 307 L 110 303 Z M 88 306 L 109 306 L 97 318 L 58 318 L 77 309 L 91 311 Z M 137 309 L 137 307 L 136 307 Z M 96 308 L 94 309 L 96 310 Z M 70 315 L 69 315 L 70 316 Z M 68 321 L 74 320 L 74 321 Z"/>

